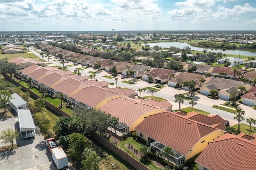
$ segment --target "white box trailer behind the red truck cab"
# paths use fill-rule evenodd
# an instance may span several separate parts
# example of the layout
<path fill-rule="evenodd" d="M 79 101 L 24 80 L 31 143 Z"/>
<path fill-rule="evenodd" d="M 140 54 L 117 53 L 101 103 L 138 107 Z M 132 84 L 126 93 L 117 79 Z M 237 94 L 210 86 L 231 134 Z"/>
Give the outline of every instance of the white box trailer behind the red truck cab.
<path fill-rule="evenodd" d="M 68 156 L 60 146 L 57 148 L 52 148 L 52 159 L 58 170 L 64 167 L 68 167 Z"/>

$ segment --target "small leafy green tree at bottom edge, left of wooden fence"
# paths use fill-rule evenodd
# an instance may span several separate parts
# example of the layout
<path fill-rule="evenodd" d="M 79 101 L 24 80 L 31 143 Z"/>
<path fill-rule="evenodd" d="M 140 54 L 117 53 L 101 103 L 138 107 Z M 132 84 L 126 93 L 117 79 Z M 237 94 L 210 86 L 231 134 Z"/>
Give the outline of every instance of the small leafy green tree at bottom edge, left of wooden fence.
<path fill-rule="evenodd" d="M 100 156 L 92 148 L 85 148 L 82 158 L 85 158 L 85 160 L 82 160 L 81 170 L 100 169 Z"/>

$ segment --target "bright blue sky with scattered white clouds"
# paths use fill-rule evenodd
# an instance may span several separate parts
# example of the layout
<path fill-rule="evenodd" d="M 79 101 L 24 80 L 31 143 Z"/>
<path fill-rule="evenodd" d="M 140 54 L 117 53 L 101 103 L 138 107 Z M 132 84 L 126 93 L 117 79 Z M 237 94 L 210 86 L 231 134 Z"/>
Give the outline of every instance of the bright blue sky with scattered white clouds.
<path fill-rule="evenodd" d="M 0 0 L 1 31 L 256 30 L 256 0 Z"/>

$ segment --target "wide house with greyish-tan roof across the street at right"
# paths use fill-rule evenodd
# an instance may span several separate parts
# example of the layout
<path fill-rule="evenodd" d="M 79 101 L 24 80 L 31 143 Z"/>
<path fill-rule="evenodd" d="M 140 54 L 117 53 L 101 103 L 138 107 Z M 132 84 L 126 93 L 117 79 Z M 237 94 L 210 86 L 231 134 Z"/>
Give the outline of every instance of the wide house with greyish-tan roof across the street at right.
<path fill-rule="evenodd" d="M 211 90 L 216 90 L 218 91 L 218 96 L 221 99 L 229 100 L 230 93 L 235 90 L 237 92 L 237 88 L 240 86 L 246 87 L 246 91 L 252 88 L 250 84 L 244 83 L 242 81 L 223 79 L 220 77 L 212 77 L 210 78 L 210 81 L 206 83 L 205 86 L 200 87 L 200 92 L 201 94 L 209 95 Z"/>

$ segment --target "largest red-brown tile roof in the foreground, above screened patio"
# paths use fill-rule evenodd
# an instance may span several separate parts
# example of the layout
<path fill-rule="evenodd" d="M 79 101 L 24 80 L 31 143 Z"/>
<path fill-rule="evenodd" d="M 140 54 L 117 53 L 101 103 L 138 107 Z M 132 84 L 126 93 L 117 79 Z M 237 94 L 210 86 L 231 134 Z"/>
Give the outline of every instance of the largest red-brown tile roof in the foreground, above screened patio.
<path fill-rule="evenodd" d="M 170 111 L 163 111 L 148 116 L 135 130 L 186 155 L 200 138 L 217 128 L 186 119 Z"/>

